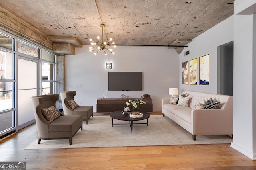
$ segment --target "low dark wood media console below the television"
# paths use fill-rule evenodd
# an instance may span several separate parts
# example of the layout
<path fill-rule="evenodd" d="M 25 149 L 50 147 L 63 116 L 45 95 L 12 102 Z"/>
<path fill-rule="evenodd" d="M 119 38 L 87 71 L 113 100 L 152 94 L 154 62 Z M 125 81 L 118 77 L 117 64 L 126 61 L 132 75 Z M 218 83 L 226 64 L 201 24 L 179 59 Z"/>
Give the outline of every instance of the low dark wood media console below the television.
<path fill-rule="evenodd" d="M 120 98 L 106 98 L 106 99 L 98 99 L 97 100 L 97 112 L 113 112 L 113 111 L 122 111 L 124 107 L 128 107 L 126 102 L 128 100 L 134 100 L 140 98 L 130 98 L 130 99 L 120 99 Z M 139 108 L 139 111 L 152 112 L 153 111 L 153 103 L 152 99 L 143 99 L 146 104 Z M 131 109 L 131 111 L 133 111 Z"/>

